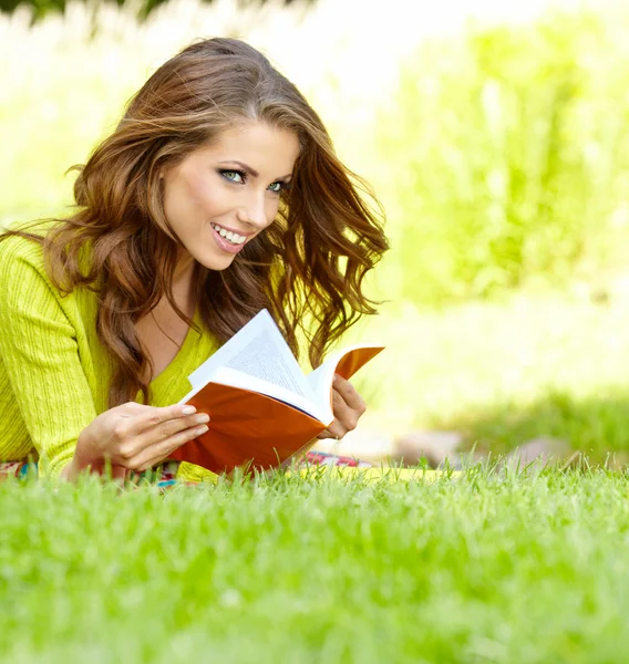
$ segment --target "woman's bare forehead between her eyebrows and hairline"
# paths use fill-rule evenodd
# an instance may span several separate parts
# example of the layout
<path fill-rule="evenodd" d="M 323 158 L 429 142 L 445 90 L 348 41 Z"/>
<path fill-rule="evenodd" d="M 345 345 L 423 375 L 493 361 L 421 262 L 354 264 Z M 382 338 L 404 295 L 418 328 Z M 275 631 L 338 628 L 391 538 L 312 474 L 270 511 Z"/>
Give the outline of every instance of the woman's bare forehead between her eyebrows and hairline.
<path fill-rule="evenodd" d="M 217 162 L 243 162 L 260 177 L 274 178 L 292 172 L 299 156 L 299 139 L 288 129 L 252 122 L 221 132 L 198 153 Z"/>

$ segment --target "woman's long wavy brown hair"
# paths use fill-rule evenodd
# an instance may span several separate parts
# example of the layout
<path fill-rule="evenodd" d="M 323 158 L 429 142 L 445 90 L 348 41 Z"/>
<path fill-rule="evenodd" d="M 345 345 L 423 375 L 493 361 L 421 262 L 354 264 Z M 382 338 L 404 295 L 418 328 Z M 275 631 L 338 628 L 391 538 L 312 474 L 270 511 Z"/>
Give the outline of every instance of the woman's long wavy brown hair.
<path fill-rule="evenodd" d="M 275 222 L 228 269 L 196 264 L 204 325 L 225 342 L 267 308 L 295 354 L 301 330 L 317 366 L 362 314 L 375 312 L 363 282 L 388 242 L 368 185 L 341 164 L 317 113 L 260 52 L 234 39 L 193 43 L 148 79 L 113 134 L 75 167 L 78 211 L 44 236 L 3 236 L 42 242 L 62 292 L 85 287 L 99 294 L 97 334 L 114 363 L 110 407 L 138 391 L 149 402 L 152 362 L 134 324 L 163 297 L 193 324 L 172 292 L 181 245 L 164 214 L 159 173 L 250 121 L 293 132 L 300 155 Z"/>

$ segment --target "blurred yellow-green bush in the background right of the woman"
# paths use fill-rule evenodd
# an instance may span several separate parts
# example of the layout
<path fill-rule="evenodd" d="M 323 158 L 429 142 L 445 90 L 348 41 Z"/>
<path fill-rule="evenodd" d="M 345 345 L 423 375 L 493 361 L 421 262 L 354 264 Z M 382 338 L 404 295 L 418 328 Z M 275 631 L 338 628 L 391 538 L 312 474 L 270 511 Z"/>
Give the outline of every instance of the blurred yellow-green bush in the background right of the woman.
<path fill-rule="evenodd" d="M 629 22 L 625 21 L 625 29 Z M 627 229 L 629 50 L 604 14 L 427 43 L 378 132 L 416 301 L 566 283 Z"/>

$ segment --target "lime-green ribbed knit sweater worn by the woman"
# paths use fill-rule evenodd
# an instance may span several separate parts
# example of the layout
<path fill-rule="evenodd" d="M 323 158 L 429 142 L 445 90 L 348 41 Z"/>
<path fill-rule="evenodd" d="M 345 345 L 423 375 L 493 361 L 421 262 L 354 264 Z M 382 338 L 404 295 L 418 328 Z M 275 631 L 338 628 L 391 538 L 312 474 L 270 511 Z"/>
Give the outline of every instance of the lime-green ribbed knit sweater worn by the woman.
<path fill-rule="evenodd" d="M 55 289 L 39 243 L 0 242 L 0 461 L 40 459 L 59 475 L 79 434 L 107 409 L 111 360 L 96 336 L 96 294 Z M 203 330 L 198 312 L 194 318 Z M 151 405 L 168 406 L 190 390 L 187 381 L 217 344 L 190 328 L 173 362 L 152 383 Z M 207 470 L 182 464 L 179 477 Z"/>

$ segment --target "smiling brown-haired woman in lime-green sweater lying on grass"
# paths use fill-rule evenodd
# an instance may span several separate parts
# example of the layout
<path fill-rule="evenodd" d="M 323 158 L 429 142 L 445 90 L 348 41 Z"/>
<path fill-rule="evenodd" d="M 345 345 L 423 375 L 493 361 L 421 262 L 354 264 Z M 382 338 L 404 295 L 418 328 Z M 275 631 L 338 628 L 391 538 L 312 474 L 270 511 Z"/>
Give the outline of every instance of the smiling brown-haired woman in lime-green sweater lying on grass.
<path fill-rule="evenodd" d="M 373 313 L 388 248 L 318 115 L 258 51 L 194 43 L 78 167 L 78 211 L 0 241 L 0 461 L 154 468 L 212 426 L 186 376 L 260 309 L 310 361 Z M 342 437 L 364 412 L 342 378 Z M 20 466 L 23 467 L 23 466 Z M 172 471 L 172 466 L 171 466 Z M 182 464 L 178 477 L 200 479 Z"/>

